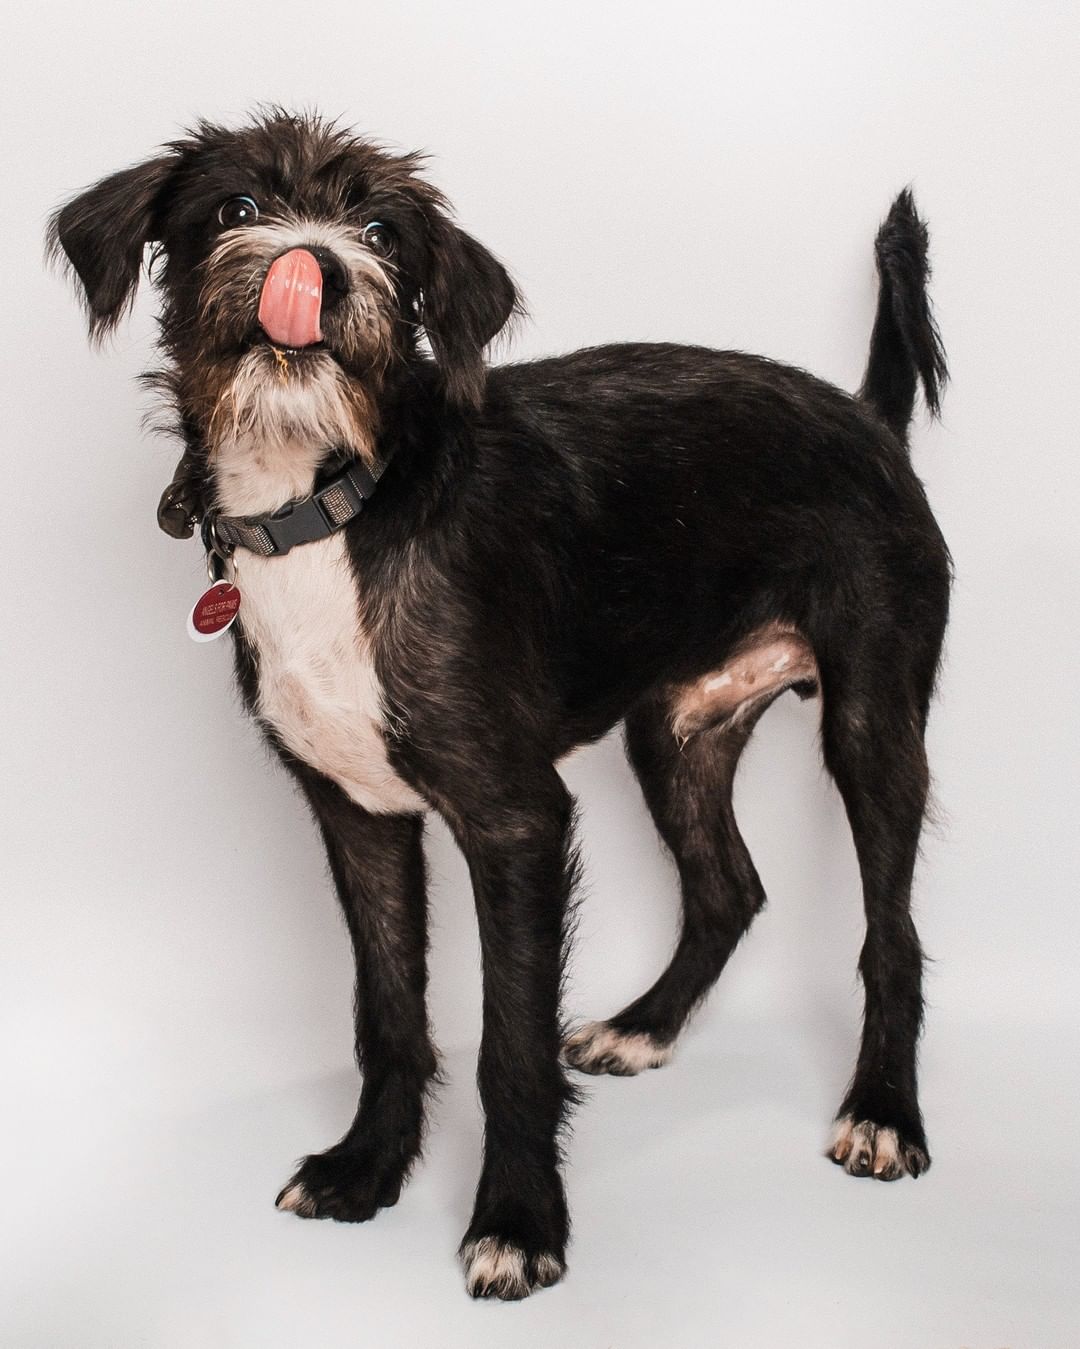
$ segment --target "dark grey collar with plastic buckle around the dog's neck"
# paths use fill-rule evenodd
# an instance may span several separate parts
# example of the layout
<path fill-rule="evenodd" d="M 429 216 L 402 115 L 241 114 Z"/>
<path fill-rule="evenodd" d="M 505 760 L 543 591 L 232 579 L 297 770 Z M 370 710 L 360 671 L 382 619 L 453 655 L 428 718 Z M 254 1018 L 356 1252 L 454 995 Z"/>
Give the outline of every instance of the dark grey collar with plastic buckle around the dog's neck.
<path fill-rule="evenodd" d="M 247 548 L 260 557 L 279 557 L 297 544 L 329 538 L 356 519 L 364 502 L 375 495 L 384 468 L 384 463 L 368 468 L 359 459 L 351 459 L 337 472 L 329 469 L 332 476 L 324 468 L 310 496 L 287 502 L 264 515 L 222 515 L 210 509 L 202 518 L 206 552 L 225 558 L 237 548 Z"/>

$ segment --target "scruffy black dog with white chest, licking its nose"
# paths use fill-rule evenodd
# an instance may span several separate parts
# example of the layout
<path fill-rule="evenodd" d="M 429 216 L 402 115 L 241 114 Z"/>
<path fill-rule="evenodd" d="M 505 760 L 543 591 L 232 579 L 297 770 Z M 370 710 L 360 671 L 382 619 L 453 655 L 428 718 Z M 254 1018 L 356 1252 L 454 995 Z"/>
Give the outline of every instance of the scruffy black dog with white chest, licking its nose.
<path fill-rule="evenodd" d="M 484 1153 L 460 1255 L 471 1294 L 518 1299 L 565 1271 L 566 1068 L 666 1063 L 764 904 L 732 780 L 787 689 L 820 696 L 867 923 L 828 1155 L 880 1180 L 930 1163 L 910 888 L 951 561 L 907 433 L 947 368 L 906 190 L 876 239 L 855 395 L 674 344 L 488 367 L 518 291 L 421 170 L 314 115 L 200 123 L 63 205 L 50 247 L 100 339 L 152 246 L 151 378 L 185 442 L 159 519 L 200 525 L 240 592 L 243 699 L 314 813 L 355 950 L 356 1118 L 278 1207 L 365 1221 L 419 1155 L 437 811 L 483 948 Z M 619 722 L 678 867 L 681 935 L 651 989 L 568 1033 L 574 803 L 556 765 Z"/>

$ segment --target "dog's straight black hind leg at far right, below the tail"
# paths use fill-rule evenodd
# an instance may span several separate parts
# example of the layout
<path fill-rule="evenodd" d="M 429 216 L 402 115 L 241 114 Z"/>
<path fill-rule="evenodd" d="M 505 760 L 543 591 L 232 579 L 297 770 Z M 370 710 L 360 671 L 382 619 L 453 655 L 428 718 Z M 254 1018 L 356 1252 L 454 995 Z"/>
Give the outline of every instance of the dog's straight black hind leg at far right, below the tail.
<path fill-rule="evenodd" d="M 910 894 L 929 785 L 932 674 L 905 664 L 891 650 L 841 670 L 822 665 L 825 764 L 851 822 L 867 921 L 862 1048 L 829 1156 L 849 1175 L 879 1180 L 918 1176 L 930 1164 L 916 1083 L 922 951 Z"/>

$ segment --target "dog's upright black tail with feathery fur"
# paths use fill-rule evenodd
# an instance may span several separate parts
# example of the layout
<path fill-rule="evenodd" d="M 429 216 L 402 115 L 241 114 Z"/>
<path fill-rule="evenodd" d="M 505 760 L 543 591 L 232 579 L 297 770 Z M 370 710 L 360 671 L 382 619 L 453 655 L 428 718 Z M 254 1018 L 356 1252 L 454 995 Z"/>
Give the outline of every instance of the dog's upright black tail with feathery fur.
<path fill-rule="evenodd" d="M 878 313 L 859 397 L 906 441 L 917 383 L 921 380 L 926 406 L 937 417 L 941 390 L 949 378 L 941 333 L 926 294 L 930 275 L 926 225 L 918 219 L 910 188 L 893 202 L 874 251 Z"/>

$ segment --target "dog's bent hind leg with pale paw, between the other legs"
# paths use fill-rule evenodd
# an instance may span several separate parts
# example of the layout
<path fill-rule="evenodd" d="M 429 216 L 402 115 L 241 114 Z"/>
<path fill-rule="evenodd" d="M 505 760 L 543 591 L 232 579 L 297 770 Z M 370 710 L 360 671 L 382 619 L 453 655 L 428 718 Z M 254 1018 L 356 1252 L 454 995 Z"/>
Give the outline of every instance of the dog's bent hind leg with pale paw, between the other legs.
<path fill-rule="evenodd" d="M 573 1067 L 634 1074 L 666 1063 L 684 1023 L 764 904 L 731 799 L 739 755 L 764 706 L 685 742 L 673 734 L 665 697 L 650 699 L 627 718 L 630 761 L 678 866 L 682 931 L 670 965 L 647 993 L 568 1039 L 564 1055 Z"/>

